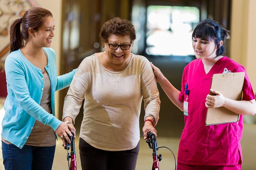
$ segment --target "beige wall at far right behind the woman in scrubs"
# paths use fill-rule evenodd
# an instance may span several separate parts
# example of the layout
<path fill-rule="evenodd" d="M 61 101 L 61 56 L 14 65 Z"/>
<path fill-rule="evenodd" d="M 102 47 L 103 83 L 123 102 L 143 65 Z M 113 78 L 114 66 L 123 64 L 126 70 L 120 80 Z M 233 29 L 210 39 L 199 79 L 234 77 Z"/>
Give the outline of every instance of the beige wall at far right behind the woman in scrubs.
<path fill-rule="evenodd" d="M 233 0 L 231 14 L 231 59 L 242 64 L 256 92 L 256 7 L 255 0 Z M 246 123 L 256 123 L 256 116 L 245 116 Z"/>

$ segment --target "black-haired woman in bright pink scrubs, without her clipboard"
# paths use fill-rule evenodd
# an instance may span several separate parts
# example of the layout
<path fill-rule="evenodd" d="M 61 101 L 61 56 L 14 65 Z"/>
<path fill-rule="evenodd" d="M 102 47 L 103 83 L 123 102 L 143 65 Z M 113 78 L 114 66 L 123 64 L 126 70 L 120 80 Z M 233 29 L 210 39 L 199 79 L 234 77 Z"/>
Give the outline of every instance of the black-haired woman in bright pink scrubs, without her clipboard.
<path fill-rule="evenodd" d="M 243 115 L 254 115 L 256 102 L 245 68 L 227 56 L 222 56 L 227 36 L 228 31 L 210 19 L 196 26 L 192 34 L 196 60 L 184 68 L 181 91 L 173 87 L 151 63 L 156 80 L 166 95 L 184 111 L 185 127 L 180 138 L 177 170 L 241 169 Z M 212 75 L 222 73 L 224 68 L 245 73 L 242 101 L 228 99 L 214 89 L 211 92 L 216 96 L 209 95 Z M 205 126 L 207 108 L 217 107 L 225 107 L 239 114 L 238 124 Z"/>

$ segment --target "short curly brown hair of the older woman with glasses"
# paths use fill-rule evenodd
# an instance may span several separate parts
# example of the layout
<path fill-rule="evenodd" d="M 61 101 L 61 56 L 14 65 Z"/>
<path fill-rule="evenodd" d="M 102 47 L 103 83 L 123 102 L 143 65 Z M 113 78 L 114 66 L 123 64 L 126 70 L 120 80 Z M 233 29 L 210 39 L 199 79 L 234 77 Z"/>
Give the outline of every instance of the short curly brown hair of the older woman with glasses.
<path fill-rule="evenodd" d="M 136 39 L 135 33 L 134 25 L 132 25 L 131 21 L 116 17 L 102 25 L 100 38 L 104 46 L 104 43 L 108 41 L 111 34 L 121 36 L 129 35 L 131 40 L 134 41 Z"/>

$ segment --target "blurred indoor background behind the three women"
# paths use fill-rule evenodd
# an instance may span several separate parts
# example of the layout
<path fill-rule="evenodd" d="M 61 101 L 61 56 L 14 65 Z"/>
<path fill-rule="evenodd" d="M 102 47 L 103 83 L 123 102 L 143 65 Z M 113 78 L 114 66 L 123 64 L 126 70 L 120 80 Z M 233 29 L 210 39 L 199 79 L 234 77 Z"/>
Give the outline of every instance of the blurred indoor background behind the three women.
<path fill-rule="evenodd" d="M 120 17 L 131 20 L 135 26 L 137 39 L 132 53 L 147 57 L 162 70 L 177 89 L 181 89 L 183 68 L 195 59 L 191 41 L 193 29 L 201 20 L 210 18 L 230 31 L 225 43 L 225 55 L 246 68 L 252 87 L 256 89 L 255 0 L 0 0 L 0 71 L 3 70 L 4 60 L 9 54 L 9 29 L 12 21 L 21 18 L 26 10 L 34 6 L 46 8 L 53 14 L 56 30 L 51 48 L 57 54 L 60 75 L 78 67 L 85 57 L 103 51 L 99 37 L 101 26 L 109 19 Z M 160 86 L 158 89 L 161 110 L 156 129 L 158 139 L 162 141 L 162 144 L 159 142 L 158 144 L 172 147 L 177 156 L 184 116 L 170 102 Z M 67 90 L 68 88 L 56 93 L 55 108 L 59 119 L 62 117 Z M 0 121 L 4 116 L 3 103 L 6 95 L 5 74 L 1 72 Z M 80 110 L 76 118 L 77 131 L 80 129 L 82 114 L 83 110 Z M 141 129 L 143 115 L 142 107 Z M 245 116 L 244 136 L 241 142 L 244 154 L 243 169 L 256 169 L 254 166 L 256 146 L 253 143 L 255 139 L 256 116 Z M 137 169 L 144 169 L 142 165 L 144 156 L 148 156 L 146 164 L 151 164 L 152 152 L 143 140 L 141 141 L 143 149 L 142 145 L 146 145 L 145 152 L 140 151 Z M 60 152 L 57 152 L 57 149 L 56 154 L 62 154 L 63 157 L 65 151 L 62 153 L 63 149 L 59 150 Z M 147 151 L 149 152 L 146 153 Z M 166 154 L 168 159 L 163 160 L 166 165 L 163 165 L 162 169 L 173 167 L 168 164 L 174 163 L 172 155 L 168 152 Z M 59 156 L 55 157 L 55 160 L 57 159 Z M 58 169 L 62 160 L 66 159 L 55 161 L 53 169 Z M 0 169 L 1 166 L 2 164 Z"/>

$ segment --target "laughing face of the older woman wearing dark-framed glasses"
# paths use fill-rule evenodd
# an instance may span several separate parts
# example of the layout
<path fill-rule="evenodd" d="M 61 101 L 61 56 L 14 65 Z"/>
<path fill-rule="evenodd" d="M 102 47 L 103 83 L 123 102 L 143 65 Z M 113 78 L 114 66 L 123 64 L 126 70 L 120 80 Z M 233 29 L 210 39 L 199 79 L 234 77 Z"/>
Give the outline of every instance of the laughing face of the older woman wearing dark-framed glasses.
<path fill-rule="evenodd" d="M 113 65 L 126 65 L 129 63 L 132 51 L 132 40 L 129 35 L 121 36 L 112 34 L 105 43 L 108 62 Z M 119 46 L 116 50 L 110 49 L 108 44 L 131 45 L 128 50 L 122 50 Z"/>

